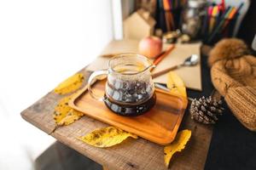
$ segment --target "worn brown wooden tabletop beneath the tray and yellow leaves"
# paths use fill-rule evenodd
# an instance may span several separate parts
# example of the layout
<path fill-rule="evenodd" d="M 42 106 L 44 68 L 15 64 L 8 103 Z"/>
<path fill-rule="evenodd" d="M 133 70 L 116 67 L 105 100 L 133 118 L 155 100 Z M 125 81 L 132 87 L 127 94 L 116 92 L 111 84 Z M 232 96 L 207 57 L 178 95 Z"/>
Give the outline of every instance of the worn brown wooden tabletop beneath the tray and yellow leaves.
<path fill-rule="evenodd" d="M 84 77 L 89 72 L 83 69 Z M 62 96 L 49 92 L 35 104 L 21 112 L 21 116 L 40 128 L 45 133 L 50 133 L 54 127 L 52 113 L 58 100 Z M 164 165 L 164 146 L 154 144 L 145 139 L 127 139 L 123 143 L 111 148 L 100 149 L 84 144 L 77 137 L 89 133 L 99 127 L 106 127 L 107 124 L 96 121 L 89 116 L 82 117 L 79 121 L 65 127 L 59 127 L 51 133 L 55 139 L 67 144 L 84 156 L 102 164 L 108 169 L 145 169 L 158 170 L 166 169 Z M 207 150 L 212 137 L 212 127 L 201 125 L 190 119 L 188 113 L 183 117 L 179 129 L 188 128 L 192 136 L 185 150 L 177 153 L 171 162 L 171 169 L 203 169 L 207 159 Z M 47 134 L 45 134 L 47 135 Z"/>

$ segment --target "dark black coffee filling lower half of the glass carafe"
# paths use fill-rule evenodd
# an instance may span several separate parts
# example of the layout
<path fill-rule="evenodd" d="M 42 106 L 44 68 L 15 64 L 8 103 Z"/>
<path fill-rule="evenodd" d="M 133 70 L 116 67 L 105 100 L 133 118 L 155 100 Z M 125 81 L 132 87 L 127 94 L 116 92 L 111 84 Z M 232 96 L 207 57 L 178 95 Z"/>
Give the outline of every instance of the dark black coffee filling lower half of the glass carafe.
<path fill-rule="evenodd" d="M 107 82 L 108 83 L 108 82 Z M 114 81 L 107 85 L 105 104 L 122 116 L 139 116 L 155 104 L 154 89 L 147 82 Z"/>

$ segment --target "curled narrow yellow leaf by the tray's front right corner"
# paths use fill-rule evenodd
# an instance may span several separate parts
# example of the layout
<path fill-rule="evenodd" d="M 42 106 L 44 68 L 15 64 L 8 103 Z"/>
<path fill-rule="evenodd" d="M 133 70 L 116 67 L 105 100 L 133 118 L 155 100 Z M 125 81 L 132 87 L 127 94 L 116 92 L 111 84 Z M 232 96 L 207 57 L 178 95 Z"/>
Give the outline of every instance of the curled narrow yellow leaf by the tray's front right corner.
<path fill-rule="evenodd" d="M 181 151 L 185 148 L 185 145 L 189 141 L 191 137 L 191 131 L 190 130 L 183 130 L 177 133 L 176 138 L 172 142 L 172 144 L 169 144 L 165 147 L 165 163 L 166 167 L 169 167 L 170 160 L 177 151 Z"/>

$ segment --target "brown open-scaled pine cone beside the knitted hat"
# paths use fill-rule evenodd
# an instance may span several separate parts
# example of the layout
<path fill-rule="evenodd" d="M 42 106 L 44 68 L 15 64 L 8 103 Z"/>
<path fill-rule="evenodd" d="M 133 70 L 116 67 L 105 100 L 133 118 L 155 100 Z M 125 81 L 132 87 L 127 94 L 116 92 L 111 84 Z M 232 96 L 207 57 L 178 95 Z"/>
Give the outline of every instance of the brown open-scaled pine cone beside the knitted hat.
<path fill-rule="evenodd" d="M 218 121 L 218 116 L 222 115 L 224 111 L 221 105 L 221 99 L 213 99 L 212 96 L 194 99 L 189 109 L 191 118 L 205 124 L 214 124 Z"/>

